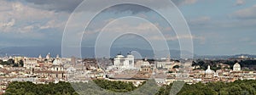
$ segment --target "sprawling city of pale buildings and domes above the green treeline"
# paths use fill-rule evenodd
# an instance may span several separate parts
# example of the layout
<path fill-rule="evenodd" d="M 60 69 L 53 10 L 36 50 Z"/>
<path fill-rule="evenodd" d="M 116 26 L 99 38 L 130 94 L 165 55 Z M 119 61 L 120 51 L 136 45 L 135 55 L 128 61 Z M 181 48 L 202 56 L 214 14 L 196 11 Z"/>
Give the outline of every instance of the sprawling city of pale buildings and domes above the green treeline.
<path fill-rule="evenodd" d="M 143 81 L 154 79 L 158 85 L 166 85 L 173 81 L 185 81 L 189 84 L 196 82 L 236 80 L 255 80 L 256 71 L 243 71 L 236 63 L 233 70 L 221 69 L 196 70 L 198 66 L 191 66 L 192 60 L 166 59 L 148 60 L 135 59 L 131 53 L 126 56 L 119 53 L 113 59 L 76 59 L 61 58 L 59 55 L 51 57 L 48 53 L 45 58 L 4 57 L 0 60 L 15 60 L 21 67 L 0 64 L 0 90 L 4 92 L 12 81 L 32 81 L 36 84 L 49 82 L 88 82 L 102 79 L 108 81 L 132 82 L 139 86 Z M 220 64 L 222 67 L 229 66 Z"/>

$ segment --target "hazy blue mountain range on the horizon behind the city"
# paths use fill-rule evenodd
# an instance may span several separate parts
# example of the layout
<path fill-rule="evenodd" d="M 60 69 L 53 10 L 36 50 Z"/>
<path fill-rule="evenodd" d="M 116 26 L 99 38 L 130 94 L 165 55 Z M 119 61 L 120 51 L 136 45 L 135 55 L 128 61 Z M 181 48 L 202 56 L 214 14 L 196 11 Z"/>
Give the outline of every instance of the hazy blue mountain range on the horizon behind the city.
<path fill-rule="evenodd" d="M 94 58 L 95 48 L 88 48 L 88 47 L 82 47 L 82 57 L 83 58 Z M 150 49 L 141 49 L 141 48 L 111 48 L 110 55 L 111 57 L 114 57 L 117 53 L 122 53 L 126 55 L 126 53 L 129 53 L 130 51 L 137 51 L 142 55 L 142 57 L 147 57 L 148 59 L 153 58 L 154 53 L 153 50 Z M 160 53 L 166 53 L 168 51 L 158 51 Z M 172 59 L 179 59 L 181 51 L 179 50 L 170 50 Z M 56 54 L 61 55 L 61 47 L 10 47 L 10 48 L 1 48 L 0 49 L 0 57 L 5 56 L 5 54 L 8 55 L 21 55 L 21 56 L 27 56 L 27 57 L 38 57 L 39 54 L 41 54 L 43 57 L 47 53 L 50 53 L 53 57 L 55 57 Z M 185 55 L 191 55 L 191 53 L 187 51 L 183 51 Z M 230 58 L 237 58 L 241 55 L 247 56 L 249 58 L 256 58 L 256 55 L 250 55 L 250 54 L 238 54 L 238 55 L 196 55 L 194 54 L 195 59 L 230 59 Z M 162 57 L 167 57 L 167 55 L 162 55 Z"/>

